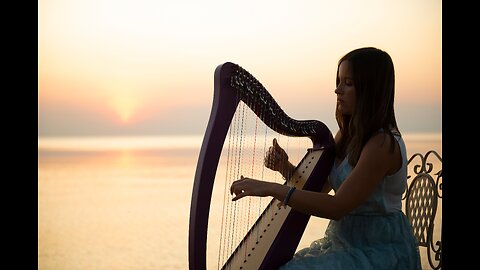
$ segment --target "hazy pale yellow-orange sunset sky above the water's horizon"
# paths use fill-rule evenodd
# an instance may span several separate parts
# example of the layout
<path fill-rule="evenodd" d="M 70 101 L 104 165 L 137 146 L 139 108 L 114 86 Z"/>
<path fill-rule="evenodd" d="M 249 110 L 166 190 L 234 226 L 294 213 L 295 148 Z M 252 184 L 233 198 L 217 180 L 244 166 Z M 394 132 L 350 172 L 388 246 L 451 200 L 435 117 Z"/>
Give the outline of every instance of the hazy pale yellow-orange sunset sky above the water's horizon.
<path fill-rule="evenodd" d="M 252 73 L 295 119 L 334 119 L 337 61 L 395 64 L 404 132 L 442 128 L 437 0 L 40 0 L 39 136 L 203 134 L 216 66 Z"/>

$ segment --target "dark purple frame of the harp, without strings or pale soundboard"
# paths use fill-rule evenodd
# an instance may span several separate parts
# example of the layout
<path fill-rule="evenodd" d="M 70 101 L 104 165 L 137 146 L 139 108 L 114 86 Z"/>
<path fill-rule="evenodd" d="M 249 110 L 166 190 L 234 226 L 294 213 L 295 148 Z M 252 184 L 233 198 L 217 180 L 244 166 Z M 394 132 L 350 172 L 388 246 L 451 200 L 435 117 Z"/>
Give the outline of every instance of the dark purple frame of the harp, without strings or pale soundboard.
<path fill-rule="evenodd" d="M 323 149 L 321 159 L 303 189 L 320 191 L 334 160 L 334 140 L 321 121 L 287 116 L 262 84 L 237 64 L 217 66 L 213 105 L 198 158 L 190 205 L 188 259 L 190 270 L 206 269 L 207 228 L 218 162 L 239 102 L 243 101 L 274 131 L 292 137 L 309 137 L 312 149 Z M 292 258 L 310 216 L 292 210 L 263 259 L 261 269 L 276 269 Z M 248 234 L 247 234 L 248 236 Z"/>

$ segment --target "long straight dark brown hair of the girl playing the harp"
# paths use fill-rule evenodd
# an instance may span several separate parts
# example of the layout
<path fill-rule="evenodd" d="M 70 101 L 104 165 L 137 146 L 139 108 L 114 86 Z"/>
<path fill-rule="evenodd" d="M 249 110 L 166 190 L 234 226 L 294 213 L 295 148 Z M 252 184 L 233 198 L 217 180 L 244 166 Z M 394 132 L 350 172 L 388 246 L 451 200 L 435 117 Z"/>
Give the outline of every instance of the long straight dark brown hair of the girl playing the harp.
<path fill-rule="evenodd" d="M 338 106 L 335 111 L 341 134 L 336 155 L 343 159 L 348 153 L 349 163 L 355 166 L 368 139 L 381 129 L 392 137 L 390 149 L 394 150 L 393 133 L 400 135 L 393 108 L 395 71 L 388 53 L 374 47 L 355 49 L 338 61 L 337 86 L 343 61 L 352 66 L 356 104 L 351 115 L 343 115 Z"/>

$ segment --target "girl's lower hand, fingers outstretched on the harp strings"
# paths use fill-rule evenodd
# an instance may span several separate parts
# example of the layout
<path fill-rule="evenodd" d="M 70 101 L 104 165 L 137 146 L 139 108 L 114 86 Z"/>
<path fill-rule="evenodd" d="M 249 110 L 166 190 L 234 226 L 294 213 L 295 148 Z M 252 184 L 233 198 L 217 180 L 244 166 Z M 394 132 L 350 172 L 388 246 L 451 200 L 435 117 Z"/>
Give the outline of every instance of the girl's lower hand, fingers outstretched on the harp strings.
<path fill-rule="evenodd" d="M 255 180 L 241 176 L 239 180 L 232 183 L 230 187 L 230 194 L 235 194 L 232 201 L 236 201 L 245 196 L 257 196 L 265 197 L 272 194 L 272 185 L 276 183 L 270 183 L 260 180 Z"/>

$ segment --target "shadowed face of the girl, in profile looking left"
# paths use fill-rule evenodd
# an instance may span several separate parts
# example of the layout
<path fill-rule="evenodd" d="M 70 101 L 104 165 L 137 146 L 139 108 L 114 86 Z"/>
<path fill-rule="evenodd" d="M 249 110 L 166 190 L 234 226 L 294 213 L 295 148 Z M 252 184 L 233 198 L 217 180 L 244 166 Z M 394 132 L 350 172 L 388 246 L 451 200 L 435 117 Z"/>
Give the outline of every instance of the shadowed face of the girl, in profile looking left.
<path fill-rule="evenodd" d="M 345 115 L 351 115 L 355 109 L 355 86 L 353 83 L 352 65 L 343 61 L 338 68 L 339 84 L 335 89 L 337 108 Z"/>

